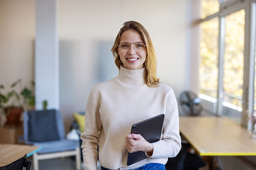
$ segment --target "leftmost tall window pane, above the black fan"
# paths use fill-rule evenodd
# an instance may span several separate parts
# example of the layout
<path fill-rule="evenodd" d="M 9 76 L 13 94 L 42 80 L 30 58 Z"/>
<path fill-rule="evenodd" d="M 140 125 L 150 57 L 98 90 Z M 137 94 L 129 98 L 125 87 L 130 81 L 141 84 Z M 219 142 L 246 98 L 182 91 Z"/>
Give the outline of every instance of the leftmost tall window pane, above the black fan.
<path fill-rule="evenodd" d="M 217 98 L 219 19 L 203 22 L 200 43 L 200 93 Z"/>

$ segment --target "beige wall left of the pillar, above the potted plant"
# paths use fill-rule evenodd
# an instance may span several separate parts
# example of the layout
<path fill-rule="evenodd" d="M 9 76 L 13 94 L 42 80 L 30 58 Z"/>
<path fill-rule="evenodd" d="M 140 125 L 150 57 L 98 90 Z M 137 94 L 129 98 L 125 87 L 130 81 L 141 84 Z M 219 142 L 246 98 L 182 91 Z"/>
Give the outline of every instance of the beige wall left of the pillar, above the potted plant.
<path fill-rule="evenodd" d="M 3 93 L 18 79 L 28 87 L 34 80 L 34 6 L 34 0 L 0 1 L 0 84 L 5 86 L 1 90 Z M 0 116 L 3 124 L 6 119 Z"/>

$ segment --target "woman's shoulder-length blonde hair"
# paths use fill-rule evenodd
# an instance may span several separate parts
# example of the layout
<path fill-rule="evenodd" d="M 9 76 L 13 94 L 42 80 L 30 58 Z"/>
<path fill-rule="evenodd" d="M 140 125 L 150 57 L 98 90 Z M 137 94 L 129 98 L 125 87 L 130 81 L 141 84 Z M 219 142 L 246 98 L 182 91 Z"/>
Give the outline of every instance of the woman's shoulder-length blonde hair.
<path fill-rule="evenodd" d="M 121 35 L 129 30 L 133 30 L 139 33 L 140 37 L 144 41 L 147 49 L 147 57 L 143 64 L 145 67 L 146 73 L 145 73 L 145 81 L 147 86 L 149 87 L 157 87 L 159 86 L 159 78 L 156 77 L 156 69 L 157 69 L 157 60 L 156 60 L 156 54 L 155 50 L 152 44 L 152 41 L 149 37 L 148 32 L 146 29 L 140 24 L 135 21 L 128 21 L 123 24 L 123 27 L 120 29 L 119 33 L 117 34 L 115 43 L 111 49 L 112 54 L 115 59 L 115 64 L 120 70 L 120 66 L 123 65 L 120 56 L 118 55 L 118 45 L 120 43 Z"/>

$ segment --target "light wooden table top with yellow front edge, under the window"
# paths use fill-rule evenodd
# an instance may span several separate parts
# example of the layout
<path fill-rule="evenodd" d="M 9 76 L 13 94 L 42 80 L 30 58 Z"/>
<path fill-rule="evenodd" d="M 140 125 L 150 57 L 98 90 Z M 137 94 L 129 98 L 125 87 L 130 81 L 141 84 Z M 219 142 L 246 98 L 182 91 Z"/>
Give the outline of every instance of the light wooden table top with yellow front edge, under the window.
<path fill-rule="evenodd" d="M 180 132 L 202 156 L 256 155 L 256 139 L 225 117 L 180 116 Z"/>

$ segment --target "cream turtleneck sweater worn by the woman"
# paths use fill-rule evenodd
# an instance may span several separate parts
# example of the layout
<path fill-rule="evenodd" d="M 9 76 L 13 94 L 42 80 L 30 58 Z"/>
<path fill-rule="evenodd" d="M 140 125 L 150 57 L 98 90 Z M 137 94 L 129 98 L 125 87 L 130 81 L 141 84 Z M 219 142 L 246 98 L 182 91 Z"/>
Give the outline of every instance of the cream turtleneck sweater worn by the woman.
<path fill-rule="evenodd" d="M 110 169 L 133 169 L 151 162 L 165 164 L 168 157 L 179 153 L 181 137 L 174 91 L 164 84 L 148 87 L 144 72 L 145 68 L 129 70 L 121 66 L 117 77 L 93 87 L 81 134 L 84 169 L 97 169 L 98 140 L 100 163 Z M 161 113 L 165 114 L 162 139 L 152 143 L 152 156 L 127 166 L 125 137 L 131 126 Z"/>

